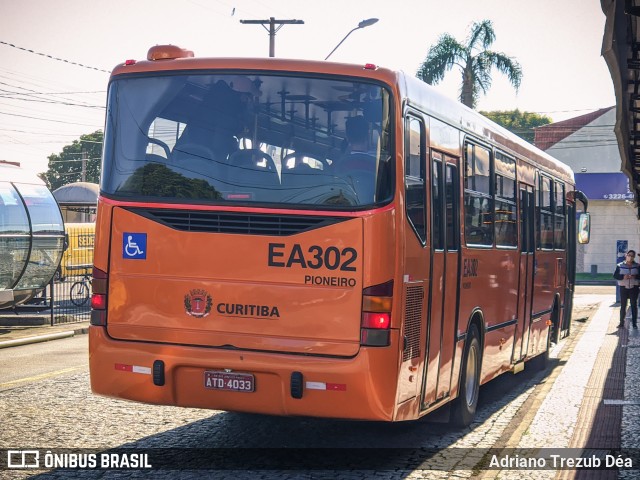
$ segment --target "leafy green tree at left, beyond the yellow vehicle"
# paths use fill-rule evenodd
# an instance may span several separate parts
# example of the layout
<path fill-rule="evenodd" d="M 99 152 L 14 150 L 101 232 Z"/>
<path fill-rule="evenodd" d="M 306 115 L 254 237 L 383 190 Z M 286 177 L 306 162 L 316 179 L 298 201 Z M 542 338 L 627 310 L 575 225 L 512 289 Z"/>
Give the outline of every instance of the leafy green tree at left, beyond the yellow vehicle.
<path fill-rule="evenodd" d="M 81 135 L 79 140 L 74 140 L 71 145 L 63 147 L 59 154 L 49 155 L 49 169 L 44 174 L 49 188 L 55 190 L 68 183 L 81 182 L 83 163 L 84 181 L 98 183 L 102 139 L 102 130 L 97 130 Z"/>

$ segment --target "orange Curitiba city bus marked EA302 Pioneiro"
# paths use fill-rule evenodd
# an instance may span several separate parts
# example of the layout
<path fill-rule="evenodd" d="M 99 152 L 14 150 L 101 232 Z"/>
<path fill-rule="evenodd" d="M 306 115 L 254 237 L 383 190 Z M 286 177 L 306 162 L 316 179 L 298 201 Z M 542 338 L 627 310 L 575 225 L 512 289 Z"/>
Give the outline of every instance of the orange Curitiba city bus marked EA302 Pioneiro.
<path fill-rule="evenodd" d="M 567 166 L 403 73 L 153 47 L 108 89 L 92 389 L 468 424 L 569 331 L 576 200 Z"/>

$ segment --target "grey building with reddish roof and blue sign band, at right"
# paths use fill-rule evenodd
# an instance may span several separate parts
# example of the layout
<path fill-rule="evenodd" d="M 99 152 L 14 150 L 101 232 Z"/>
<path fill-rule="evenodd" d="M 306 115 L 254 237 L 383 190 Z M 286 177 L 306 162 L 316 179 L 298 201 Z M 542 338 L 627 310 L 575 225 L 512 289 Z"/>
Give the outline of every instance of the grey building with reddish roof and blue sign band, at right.
<path fill-rule="evenodd" d="M 575 173 L 589 198 L 591 241 L 578 247 L 577 272 L 609 273 L 618 250 L 640 250 L 640 223 L 629 179 L 621 172 L 615 107 L 535 129 L 535 144 Z"/>

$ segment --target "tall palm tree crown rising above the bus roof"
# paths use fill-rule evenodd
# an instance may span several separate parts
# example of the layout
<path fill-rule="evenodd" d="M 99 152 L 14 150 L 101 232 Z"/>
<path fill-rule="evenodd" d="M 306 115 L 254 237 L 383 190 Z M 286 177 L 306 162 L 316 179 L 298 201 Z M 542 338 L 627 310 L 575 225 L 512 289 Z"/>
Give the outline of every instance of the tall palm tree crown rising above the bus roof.
<path fill-rule="evenodd" d="M 486 94 L 491 87 L 491 69 L 504 73 L 511 85 L 518 90 L 522 81 L 522 68 L 513 58 L 504 53 L 489 50 L 496 39 L 491 20 L 475 22 L 466 44 L 461 44 L 448 33 L 440 36 L 438 43 L 429 49 L 427 58 L 418 69 L 416 76 L 424 82 L 435 85 L 444 78 L 454 65 L 462 71 L 460 101 L 474 108 L 480 91 Z"/>

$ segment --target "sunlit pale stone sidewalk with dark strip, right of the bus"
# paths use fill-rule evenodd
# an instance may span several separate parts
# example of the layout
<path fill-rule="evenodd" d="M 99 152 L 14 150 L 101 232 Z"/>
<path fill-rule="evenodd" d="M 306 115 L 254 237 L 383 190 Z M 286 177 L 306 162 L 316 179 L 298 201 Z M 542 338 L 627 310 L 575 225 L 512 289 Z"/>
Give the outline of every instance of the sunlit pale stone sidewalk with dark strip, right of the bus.
<path fill-rule="evenodd" d="M 584 458 L 610 454 L 633 464 L 633 469 L 527 472 L 531 479 L 639 478 L 639 330 L 631 328 L 630 320 L 626 320 L 625 328 L 617 328 L 620 305 L 615 303 L 614 287 L 585 287 L 579 293 L 574 307 L 591 305 L 596 311 L 584 328 L 575 329 L 569 341 L 553 348 L 551 358 L 556 366 L 547 372 L 542 384 L 545 393 L 537 405 L 531 405 L 530 422 L 505 446 L 530 457 L 545 455 L 545 449 L 560 449 L 565 455 Z M 522 471 L 505 469 L 485 472 L 482 478 L 510 480 L 522 475 Z"/>

